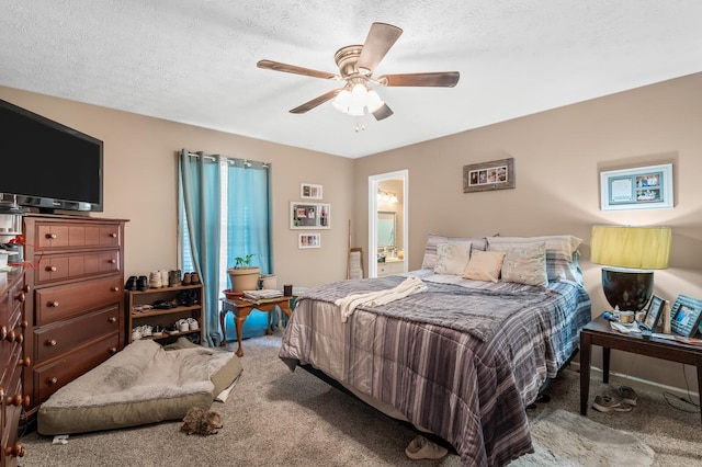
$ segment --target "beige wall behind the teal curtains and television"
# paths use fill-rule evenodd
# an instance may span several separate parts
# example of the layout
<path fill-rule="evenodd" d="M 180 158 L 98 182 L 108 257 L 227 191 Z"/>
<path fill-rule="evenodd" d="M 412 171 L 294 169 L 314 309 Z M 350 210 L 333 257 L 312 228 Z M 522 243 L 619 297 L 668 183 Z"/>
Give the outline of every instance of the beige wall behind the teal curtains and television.
<path fill-rule="evenodd" d="M 0 87 L 0 99 L 104 141 L 104 212 L 129 219 L 125 274 L 177 267 L 177 159 L 186 148 L 272 163 L 273 248 L 278 284 L 314 286 L 347 275 L 349 219 L 353 215 L 353 161 L 200 127 L 86 105 Z M 310 138 L 314 134 L 310 134 Z M 333 174 L 333 175 L 329 175 Z M 331 229 L 321 248 L 298 250 L 288 228 L 301 182 L 324 185 Z"/>

